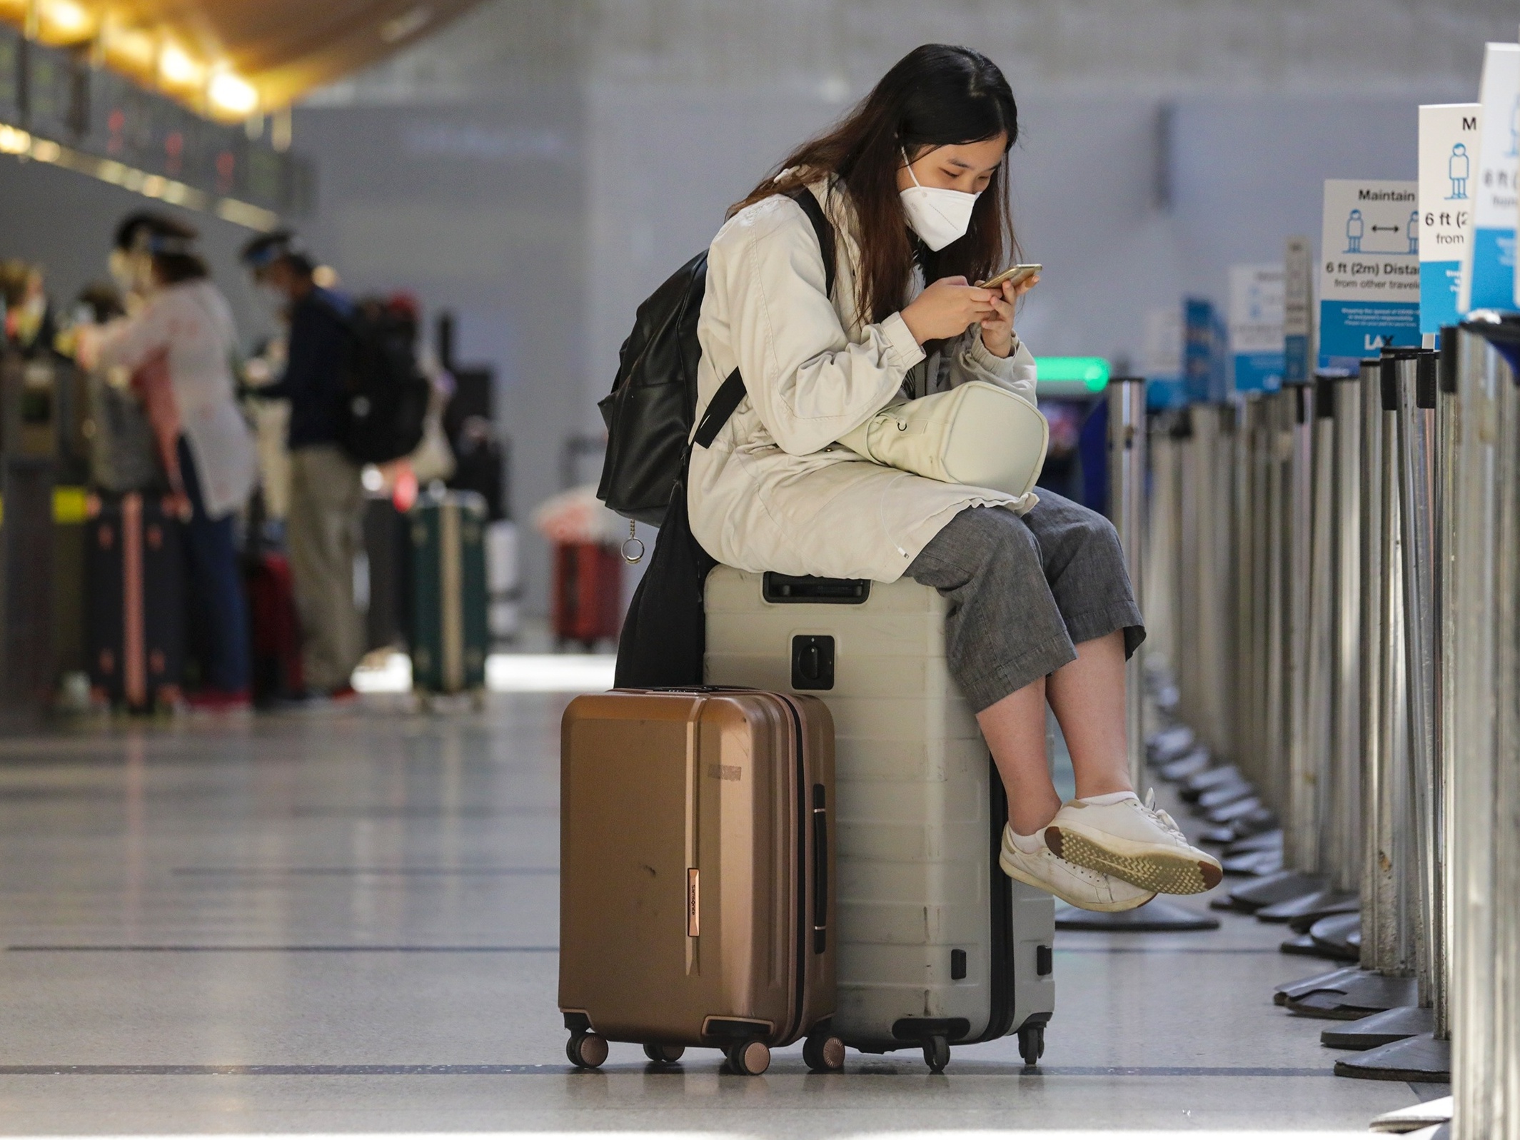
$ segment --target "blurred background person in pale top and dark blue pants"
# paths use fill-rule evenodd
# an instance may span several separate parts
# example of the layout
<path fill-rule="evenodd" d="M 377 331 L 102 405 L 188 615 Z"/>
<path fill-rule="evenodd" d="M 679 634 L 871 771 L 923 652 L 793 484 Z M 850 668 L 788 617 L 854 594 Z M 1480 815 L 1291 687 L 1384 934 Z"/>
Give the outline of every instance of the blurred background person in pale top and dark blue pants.
<path fill-rule="evenodd" d="M 111 272 L 140 304 L 103 327 L 81 328 L 78 353 L 85 368 L 167 372 L 172 407 L 149 412 L 155 427 L 166 413 L 178 424 L 164 459 L 188 508 L 190 628 L 199 634 L 204 670 L 202 687 L 188 699 L 204 708 L 246 708 L 248 616 L 233 515 L 254 485 L 254 445 L 234 398 L 233 312 L 195 242 L 193 228 L 166 214 L 128 216 L 116 231 Z"/>

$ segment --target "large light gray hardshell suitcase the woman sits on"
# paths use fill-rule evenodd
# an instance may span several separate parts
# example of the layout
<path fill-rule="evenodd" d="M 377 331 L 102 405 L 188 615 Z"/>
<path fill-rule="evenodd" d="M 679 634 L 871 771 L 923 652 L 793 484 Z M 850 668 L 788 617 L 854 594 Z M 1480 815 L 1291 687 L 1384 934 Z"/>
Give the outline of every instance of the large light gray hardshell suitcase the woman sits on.
<path fill-rule="evenodd" d="M 1055 1009 L 1055 900 L 997 865 L 1006 798 L 950 678 L 945 600 L 912 579 L 707 579 L 707 684 L 807 693 L 834 719 L 839 1003 L 868 1053 L 1018 1034 Z"/>

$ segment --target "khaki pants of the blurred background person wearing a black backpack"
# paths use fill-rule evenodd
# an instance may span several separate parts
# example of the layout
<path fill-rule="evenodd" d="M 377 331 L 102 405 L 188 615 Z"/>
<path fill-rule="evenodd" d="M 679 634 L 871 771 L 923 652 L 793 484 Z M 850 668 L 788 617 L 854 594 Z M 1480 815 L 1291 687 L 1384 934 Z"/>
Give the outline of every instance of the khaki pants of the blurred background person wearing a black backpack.
<path fill-rule="evenodd" d="M 348 684 L 365 651 L 354 608 L 354 553 L 363 511 L 359 467 L 336 444 L 290 453 L 290 579 L 301 616 L 306 687 Z"/>

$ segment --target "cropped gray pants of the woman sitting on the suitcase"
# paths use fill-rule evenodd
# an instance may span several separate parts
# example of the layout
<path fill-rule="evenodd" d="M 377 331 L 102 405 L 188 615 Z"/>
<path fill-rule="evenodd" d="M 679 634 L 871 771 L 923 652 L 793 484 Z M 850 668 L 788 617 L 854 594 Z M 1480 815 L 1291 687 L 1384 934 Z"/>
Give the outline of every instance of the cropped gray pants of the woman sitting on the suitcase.
<path fill-rule="evenodd" d="M 1076 660 L 1076 646 L 1125 631 L 1145 640 L 1123 549 L 1096 511 L 1044 488 L 1024 515 L 967 508 L 907 575 L 950 600 L 950 675 L 976 711 Z"/>

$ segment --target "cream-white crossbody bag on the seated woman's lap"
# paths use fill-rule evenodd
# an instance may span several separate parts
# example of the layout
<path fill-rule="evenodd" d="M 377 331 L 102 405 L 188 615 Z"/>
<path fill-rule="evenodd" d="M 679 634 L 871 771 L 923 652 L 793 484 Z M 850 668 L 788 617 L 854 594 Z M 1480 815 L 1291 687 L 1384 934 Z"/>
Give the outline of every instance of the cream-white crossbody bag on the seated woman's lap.
<path fill-rule="evenodd" d="M 1023 497 L 1040 479 L 1050 424 L 1021 395 L 971 380 L 891 403 L 839 442 L 900 471 Z"/>

